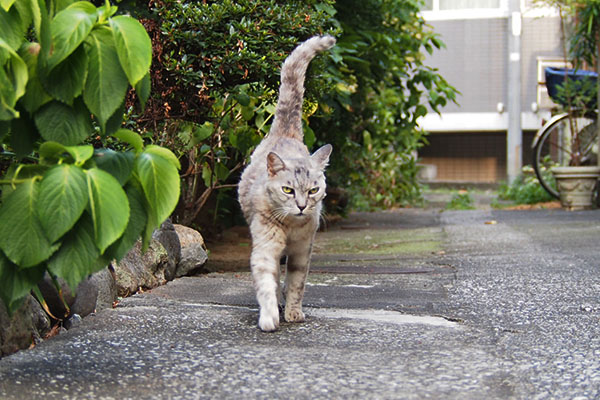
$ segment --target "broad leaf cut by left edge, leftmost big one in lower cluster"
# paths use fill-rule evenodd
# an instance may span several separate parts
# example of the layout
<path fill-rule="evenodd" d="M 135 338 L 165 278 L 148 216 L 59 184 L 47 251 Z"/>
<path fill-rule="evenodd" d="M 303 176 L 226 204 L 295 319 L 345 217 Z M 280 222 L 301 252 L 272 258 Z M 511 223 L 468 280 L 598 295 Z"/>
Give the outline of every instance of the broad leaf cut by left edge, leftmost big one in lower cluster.
<path fill-rule="evenodd" d="M 21 268 L 47 260 L 58 246 L 52 246 L 37 215 L 38 184 L 34 179 L 21 183 L 4 199 L 0 208 L 0 249 Z"/>

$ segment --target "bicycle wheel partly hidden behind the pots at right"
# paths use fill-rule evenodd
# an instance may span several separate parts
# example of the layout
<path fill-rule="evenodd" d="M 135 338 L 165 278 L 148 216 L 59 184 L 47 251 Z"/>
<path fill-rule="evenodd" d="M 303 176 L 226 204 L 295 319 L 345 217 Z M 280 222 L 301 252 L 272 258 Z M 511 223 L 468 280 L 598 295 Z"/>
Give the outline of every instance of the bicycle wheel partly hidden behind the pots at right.
<path fill-rule="evenodd" d="M 560 114 L 540 129 L 533 142 L 533 169 L 540 184 L 552 196 L 559 198 L 550 168 L 567 166 L 574 156 L 572 134 L 577 132 L 581 165 L 597 165 L 598 140 L 595 115 Z"/>

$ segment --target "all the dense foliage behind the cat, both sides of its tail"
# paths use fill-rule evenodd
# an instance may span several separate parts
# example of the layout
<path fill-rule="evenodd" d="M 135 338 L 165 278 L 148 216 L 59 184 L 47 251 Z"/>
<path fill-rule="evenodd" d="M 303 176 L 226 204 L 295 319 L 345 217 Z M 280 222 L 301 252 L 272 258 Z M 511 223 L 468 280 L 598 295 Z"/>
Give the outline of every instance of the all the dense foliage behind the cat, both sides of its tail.
<path fill-rule="evenodd" d="M 197 223 L 206 204 L 221 217 L 237 210 L 233 187 L 268 132 L 281 63 L 324 33 L 338 45 L 311 64 L 304 126 L 309 147 L 317 139 L 334 145 L 330 185 L 347 189 L 360 208 L 420 196 L 416 150 L 425 133 L 416 121 L 455 91 L 423 64 L 423 52 L 442 43 L 419 16 L 419 0 L 153 4 L 156 19 L 145 24 L 155 95 L 137 122 L 161 126 L 155 140 L 180 157 L 180 222 Z M 214 196 L 216 189 L 225 191 Z"/>

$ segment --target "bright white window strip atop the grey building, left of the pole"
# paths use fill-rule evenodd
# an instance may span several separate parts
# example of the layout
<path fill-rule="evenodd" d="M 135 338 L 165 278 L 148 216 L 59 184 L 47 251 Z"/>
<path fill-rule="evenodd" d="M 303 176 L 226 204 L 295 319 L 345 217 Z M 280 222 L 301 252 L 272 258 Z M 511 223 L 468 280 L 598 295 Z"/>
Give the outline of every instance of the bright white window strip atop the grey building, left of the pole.
<path fill-rule="evenodd" d="M 508 0 L 425 0 L 428 20 L 500 18 L 508 15 Z"/>

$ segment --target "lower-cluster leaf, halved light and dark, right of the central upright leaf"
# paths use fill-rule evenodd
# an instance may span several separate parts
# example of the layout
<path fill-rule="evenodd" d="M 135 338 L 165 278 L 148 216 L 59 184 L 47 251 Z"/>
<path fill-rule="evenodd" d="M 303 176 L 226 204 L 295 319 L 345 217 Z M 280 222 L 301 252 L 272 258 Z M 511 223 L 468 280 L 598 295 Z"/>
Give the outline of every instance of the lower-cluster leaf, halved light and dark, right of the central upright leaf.
<path fill-rule="evenodd" d="M 125 231 L 129 220 L 129 201 L 119 182 L 100 168 L 87 173 L 89 210 L 94 238 L 101 254 Z"/>

